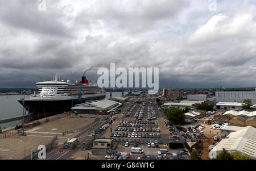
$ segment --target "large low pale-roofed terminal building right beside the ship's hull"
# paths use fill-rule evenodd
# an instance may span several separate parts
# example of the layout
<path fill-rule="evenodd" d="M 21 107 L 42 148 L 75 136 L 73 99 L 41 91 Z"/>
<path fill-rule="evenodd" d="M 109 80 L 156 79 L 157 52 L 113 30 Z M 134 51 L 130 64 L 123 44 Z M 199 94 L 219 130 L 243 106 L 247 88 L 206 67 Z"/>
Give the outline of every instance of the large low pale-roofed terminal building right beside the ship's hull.
<path fill-rule="evenodd" d="M 72 107 L 73 111 L 76 111 L 79 114 L 107 114 L 113 109 L 122 106 L 122 103 L 110 101 L 110 100 L 101 100 L 88 103 L 82 103 L 81 105 L 76 105 Z"/>

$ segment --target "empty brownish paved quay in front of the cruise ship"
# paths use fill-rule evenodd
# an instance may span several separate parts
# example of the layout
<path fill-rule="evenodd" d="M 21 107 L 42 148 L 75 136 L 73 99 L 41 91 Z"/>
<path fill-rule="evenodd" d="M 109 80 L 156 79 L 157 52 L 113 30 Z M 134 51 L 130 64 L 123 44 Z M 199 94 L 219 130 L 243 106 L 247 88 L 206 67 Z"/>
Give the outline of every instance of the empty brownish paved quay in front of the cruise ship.
<path fill-rule="evenodd" d="M 91 127 L 96 120 L 104 122 L 104 118 L 103 115 L 96 116 L 95 114 L 80 114 L 79 117 L 67 114 L 54 115 L 39 119 L 40 124 L 37 126 L 25 128 L 26 136 L 17 134 L 5 137 L 3 135 L 6 132 L 15 131 L 14 127 L 8 128 L 0 134 L 0 159 L 24 159 L 32 152 L 36 152 L 39 145 L 47 145 L 52 141 L 54 141 L 56 149 L 62 148 L 65 141 L 80 134 L 83 131 L 82 129 Z"/>

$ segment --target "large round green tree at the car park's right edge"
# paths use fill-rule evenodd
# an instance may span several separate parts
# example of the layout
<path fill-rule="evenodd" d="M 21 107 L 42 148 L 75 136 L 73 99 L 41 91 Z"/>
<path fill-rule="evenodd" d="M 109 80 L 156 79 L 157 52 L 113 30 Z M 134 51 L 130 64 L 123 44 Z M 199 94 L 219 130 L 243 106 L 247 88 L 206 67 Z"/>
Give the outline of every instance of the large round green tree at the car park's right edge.
<path fill-rule="evenodd" d="M 176 107 L 164 110 L 164 114 L 166 114 L 166 118 L 173 124 L 180 124 L 185 120 L 183 111 L 181 109 L 177 109 Z"/>

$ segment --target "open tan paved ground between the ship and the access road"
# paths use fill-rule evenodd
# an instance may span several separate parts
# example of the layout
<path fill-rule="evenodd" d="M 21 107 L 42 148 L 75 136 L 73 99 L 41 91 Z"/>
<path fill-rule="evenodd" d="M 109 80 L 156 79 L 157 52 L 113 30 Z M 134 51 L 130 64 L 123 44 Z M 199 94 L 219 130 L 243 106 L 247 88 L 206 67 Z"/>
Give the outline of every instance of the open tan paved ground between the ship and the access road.
<path fill-rule="evenodd" d="M 56 118 L 50 119 L 48 123 L 42 123 L 34 128 L 25 129 L 27 136 L 14 136 L 6 139 L 0 139 L 0 159 L 22 159 L 28 156 L 32 151 L 36 151 L 39 145 L 46 145 L 57 135 L 56 143 L 61 148 L 64 141 L 71 139 L 80 132 L 62 135 L 65 130 L 76 130 L 93 122 L 95 118 Z M 103 117 L 103 116 L 102 116 Z M 45 119 L 44 119 L 45 120 Z M 93 127 L 90 127 L 93 129 Z M 88 135 L 92 137 L 91 135 Z M 82 137 L 82 136 L 81 136 Z M 26 141 L 26 144 L 25 144 Z"/>

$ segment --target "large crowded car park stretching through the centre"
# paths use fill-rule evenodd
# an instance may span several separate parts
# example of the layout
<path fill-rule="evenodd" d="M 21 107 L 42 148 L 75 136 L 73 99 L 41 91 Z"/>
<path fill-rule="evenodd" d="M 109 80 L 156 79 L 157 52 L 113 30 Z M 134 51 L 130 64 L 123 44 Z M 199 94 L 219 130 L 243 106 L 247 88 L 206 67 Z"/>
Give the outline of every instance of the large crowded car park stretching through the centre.
<path fill-rule="evenodd" d="M 137 103 L 135 103 L 136 101 Z M 110 132 L 110 128 L 108 128 L 101 137 L 110 138 Z M 130 105 L 123 106 L 121 114 L 112 124 L 112 139 L 113 147 L 115 151 L 120 152 L 119 155 L 125 157 L 127 153 L 130 153 L 131 157 L 128 159 L 137 159 L 138 157 L 143 159 L 142 154 L 131 153 L 132 147 L 140 147 L 145 155 L 147 153 L 151 155 L 151 159 L 158 159 L 159 149 L 170 151 L 171 155 L 166 155 L 165 159 L 190 159 L 189 155 L 179 154 L 181 148 L 168 148 L 167 143 L 172 139 L 172 135 L 154 101 L 144 100 L 142 102 L 138 98 L 134 98 L 132 102 L 130 101 Z M 125 147 L 126 142 L 129 142 L 129 147 Z M 151 145 L 151 143 L 154 144 Z"/>

